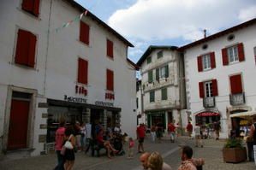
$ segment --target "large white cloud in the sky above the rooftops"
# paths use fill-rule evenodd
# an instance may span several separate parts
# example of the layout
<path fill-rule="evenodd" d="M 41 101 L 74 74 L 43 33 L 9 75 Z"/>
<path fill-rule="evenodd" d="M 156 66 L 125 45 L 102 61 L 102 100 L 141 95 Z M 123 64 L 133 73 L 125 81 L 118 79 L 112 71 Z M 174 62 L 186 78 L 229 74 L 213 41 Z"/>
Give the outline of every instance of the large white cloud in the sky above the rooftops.
<path fill-rule="evenodd" d="M 212 34 L 252 19 L 255 5 L 254 0 L 138 0 L 117 10 L 108 24 L 128 38 L 193 41 L 203 38 L 203 29 Z"/>

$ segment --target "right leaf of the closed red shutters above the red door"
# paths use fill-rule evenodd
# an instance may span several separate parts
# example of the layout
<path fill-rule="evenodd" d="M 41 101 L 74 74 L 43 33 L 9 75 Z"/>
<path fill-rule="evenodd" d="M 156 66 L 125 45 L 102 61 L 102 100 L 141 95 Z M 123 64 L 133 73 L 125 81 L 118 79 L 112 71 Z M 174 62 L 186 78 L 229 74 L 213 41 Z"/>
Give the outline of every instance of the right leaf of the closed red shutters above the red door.
<path fill-rule="evenodd" d="M 27 56 L 27 66 L 29 67 L 34 67 L 36 43 L 37 43 L 37 37 L 33 35 L 33 33 L 30 33 L 29 47 L 28 47 L 29 50 L 28 50 L 28 56 Z"/>

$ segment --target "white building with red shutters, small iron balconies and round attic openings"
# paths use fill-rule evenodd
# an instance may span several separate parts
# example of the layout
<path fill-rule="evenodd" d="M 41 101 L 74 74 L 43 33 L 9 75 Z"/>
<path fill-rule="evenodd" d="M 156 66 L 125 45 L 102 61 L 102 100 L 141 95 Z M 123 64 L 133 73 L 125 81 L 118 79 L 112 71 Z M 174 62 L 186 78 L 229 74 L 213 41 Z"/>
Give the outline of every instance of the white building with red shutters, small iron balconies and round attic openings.
<path fill-rule="evenodd" d="M 180 48 L 184 53 L 188 112 L 204 125 L 220 120 L 228 138 L 230 114 L 256 108 L 256 19 Z"/>

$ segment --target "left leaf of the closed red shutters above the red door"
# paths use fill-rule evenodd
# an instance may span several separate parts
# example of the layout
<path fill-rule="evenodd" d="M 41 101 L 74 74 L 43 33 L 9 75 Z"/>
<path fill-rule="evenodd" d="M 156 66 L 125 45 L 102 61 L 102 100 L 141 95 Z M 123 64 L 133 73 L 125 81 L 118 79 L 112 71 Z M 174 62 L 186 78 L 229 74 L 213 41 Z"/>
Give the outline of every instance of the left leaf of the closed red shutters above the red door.
<path fill-rule="evenodd" d="M 15 52 L 15 63 L 27 65 L 30 34 L 30 32 L 19 30 Z"/>

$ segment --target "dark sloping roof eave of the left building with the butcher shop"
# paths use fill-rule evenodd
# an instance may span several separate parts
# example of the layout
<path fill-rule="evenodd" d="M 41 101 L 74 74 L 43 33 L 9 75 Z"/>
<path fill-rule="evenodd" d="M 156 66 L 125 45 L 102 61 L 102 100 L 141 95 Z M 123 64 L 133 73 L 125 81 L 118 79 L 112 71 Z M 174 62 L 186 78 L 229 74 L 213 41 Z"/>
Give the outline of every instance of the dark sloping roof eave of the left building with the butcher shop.
<path fill-rule="evenodd" d="M 113 28 L 108 26 L 106 23 L 104 23 L 104 21 L 101 21 L 97 16 L 93 15 L 88 9 L 85 9 L 79 3 L 74 2 L 74 0 L 65 0 L 65 1 L 67 3 L 70 3 L 71 6 L 73 6 L 74 8 L 79 9 L 80 12 L 85 12 L 87 10 L 86 16 L 91 17 L 93 21 L 97 21 L 98 24 L 100 24 L 101 26 L 104 26 L 105 29 L 112 32 L 117 38 L 122 40 L 123 43 L 128 44 L 129 47 L 134 47 L 134 45 L 128 42 L 126 38 L 123 38 L 122 35 L 120 35 L 118 32 L 116 32 Z"/>

